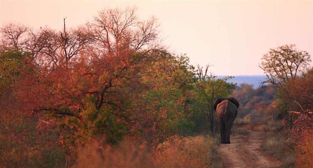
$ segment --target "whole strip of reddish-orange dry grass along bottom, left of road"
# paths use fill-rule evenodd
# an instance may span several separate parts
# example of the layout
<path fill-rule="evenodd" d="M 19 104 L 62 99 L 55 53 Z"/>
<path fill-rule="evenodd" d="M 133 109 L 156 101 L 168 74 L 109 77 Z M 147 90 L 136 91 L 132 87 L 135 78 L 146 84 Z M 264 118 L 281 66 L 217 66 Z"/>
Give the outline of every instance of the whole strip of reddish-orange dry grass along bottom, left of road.
<path fill-rule="evenodd" d="M 173 136 L 154 150 L 123 141 L 117 146 L 99 140 L 81 148 L 73 167 L 223 167 L 210 136 Z"/>

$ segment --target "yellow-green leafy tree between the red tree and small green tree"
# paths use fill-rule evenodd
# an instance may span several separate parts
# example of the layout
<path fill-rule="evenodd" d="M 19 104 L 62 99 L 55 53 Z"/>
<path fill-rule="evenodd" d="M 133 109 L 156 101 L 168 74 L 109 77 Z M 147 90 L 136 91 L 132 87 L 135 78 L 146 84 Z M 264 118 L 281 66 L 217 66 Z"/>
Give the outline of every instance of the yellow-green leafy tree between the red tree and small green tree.
<path fill-rule="evenodd" d="M 193 69 L 186 55 L 160 57 L 151 62 L 151 76 L 144 77 L 151 89 L 143 92 L 143 127 L 150 128 L 151 141 L 162 142 L 172 135 L 189 135 L 194 122 L 185 113 L 192 89 Z M 150 72 L 149 72 L 150 73 Z"/>

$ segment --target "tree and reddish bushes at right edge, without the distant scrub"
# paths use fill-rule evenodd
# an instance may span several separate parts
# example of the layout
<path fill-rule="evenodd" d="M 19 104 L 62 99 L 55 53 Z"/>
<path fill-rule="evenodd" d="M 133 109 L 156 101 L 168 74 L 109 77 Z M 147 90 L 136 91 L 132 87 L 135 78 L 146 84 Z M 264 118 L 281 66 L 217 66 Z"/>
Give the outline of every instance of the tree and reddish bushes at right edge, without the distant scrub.
<path fill-rule="evenodd" d="M 277 156 L 286 167 L 311 167 L 313 162 L 313 68 L 310 55 L 295 45 L 284 45 L 263 56 L 268 81 L 277 89 L 275 115 L 262 148 Z"/>

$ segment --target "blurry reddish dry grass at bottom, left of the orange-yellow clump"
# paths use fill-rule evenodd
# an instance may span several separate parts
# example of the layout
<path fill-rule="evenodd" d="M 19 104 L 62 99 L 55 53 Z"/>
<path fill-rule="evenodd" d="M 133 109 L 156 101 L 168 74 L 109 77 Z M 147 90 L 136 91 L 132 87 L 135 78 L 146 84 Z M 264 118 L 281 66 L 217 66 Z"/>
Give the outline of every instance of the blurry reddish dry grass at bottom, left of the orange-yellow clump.
<path fill-rule="evenodd" d="M 105 138 L 104 138 L 105 139 Z M 149 167 L 153 156 L 141 146 L 123 141 L 118 146 L 110 146 L 101 140 L 93 140 L 81 148 L 73 167 Z"/>

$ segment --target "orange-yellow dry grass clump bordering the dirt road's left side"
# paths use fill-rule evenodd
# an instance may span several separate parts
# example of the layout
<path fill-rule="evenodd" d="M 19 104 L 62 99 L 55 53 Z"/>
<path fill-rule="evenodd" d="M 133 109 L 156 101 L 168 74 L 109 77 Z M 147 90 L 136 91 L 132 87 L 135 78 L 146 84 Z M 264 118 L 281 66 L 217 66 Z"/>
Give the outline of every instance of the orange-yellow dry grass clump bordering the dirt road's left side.
<path fill-rule="evenodd" d="M 157 167 L 222 167 L 210 136 L 174 137 L 156 148 Z"/>

